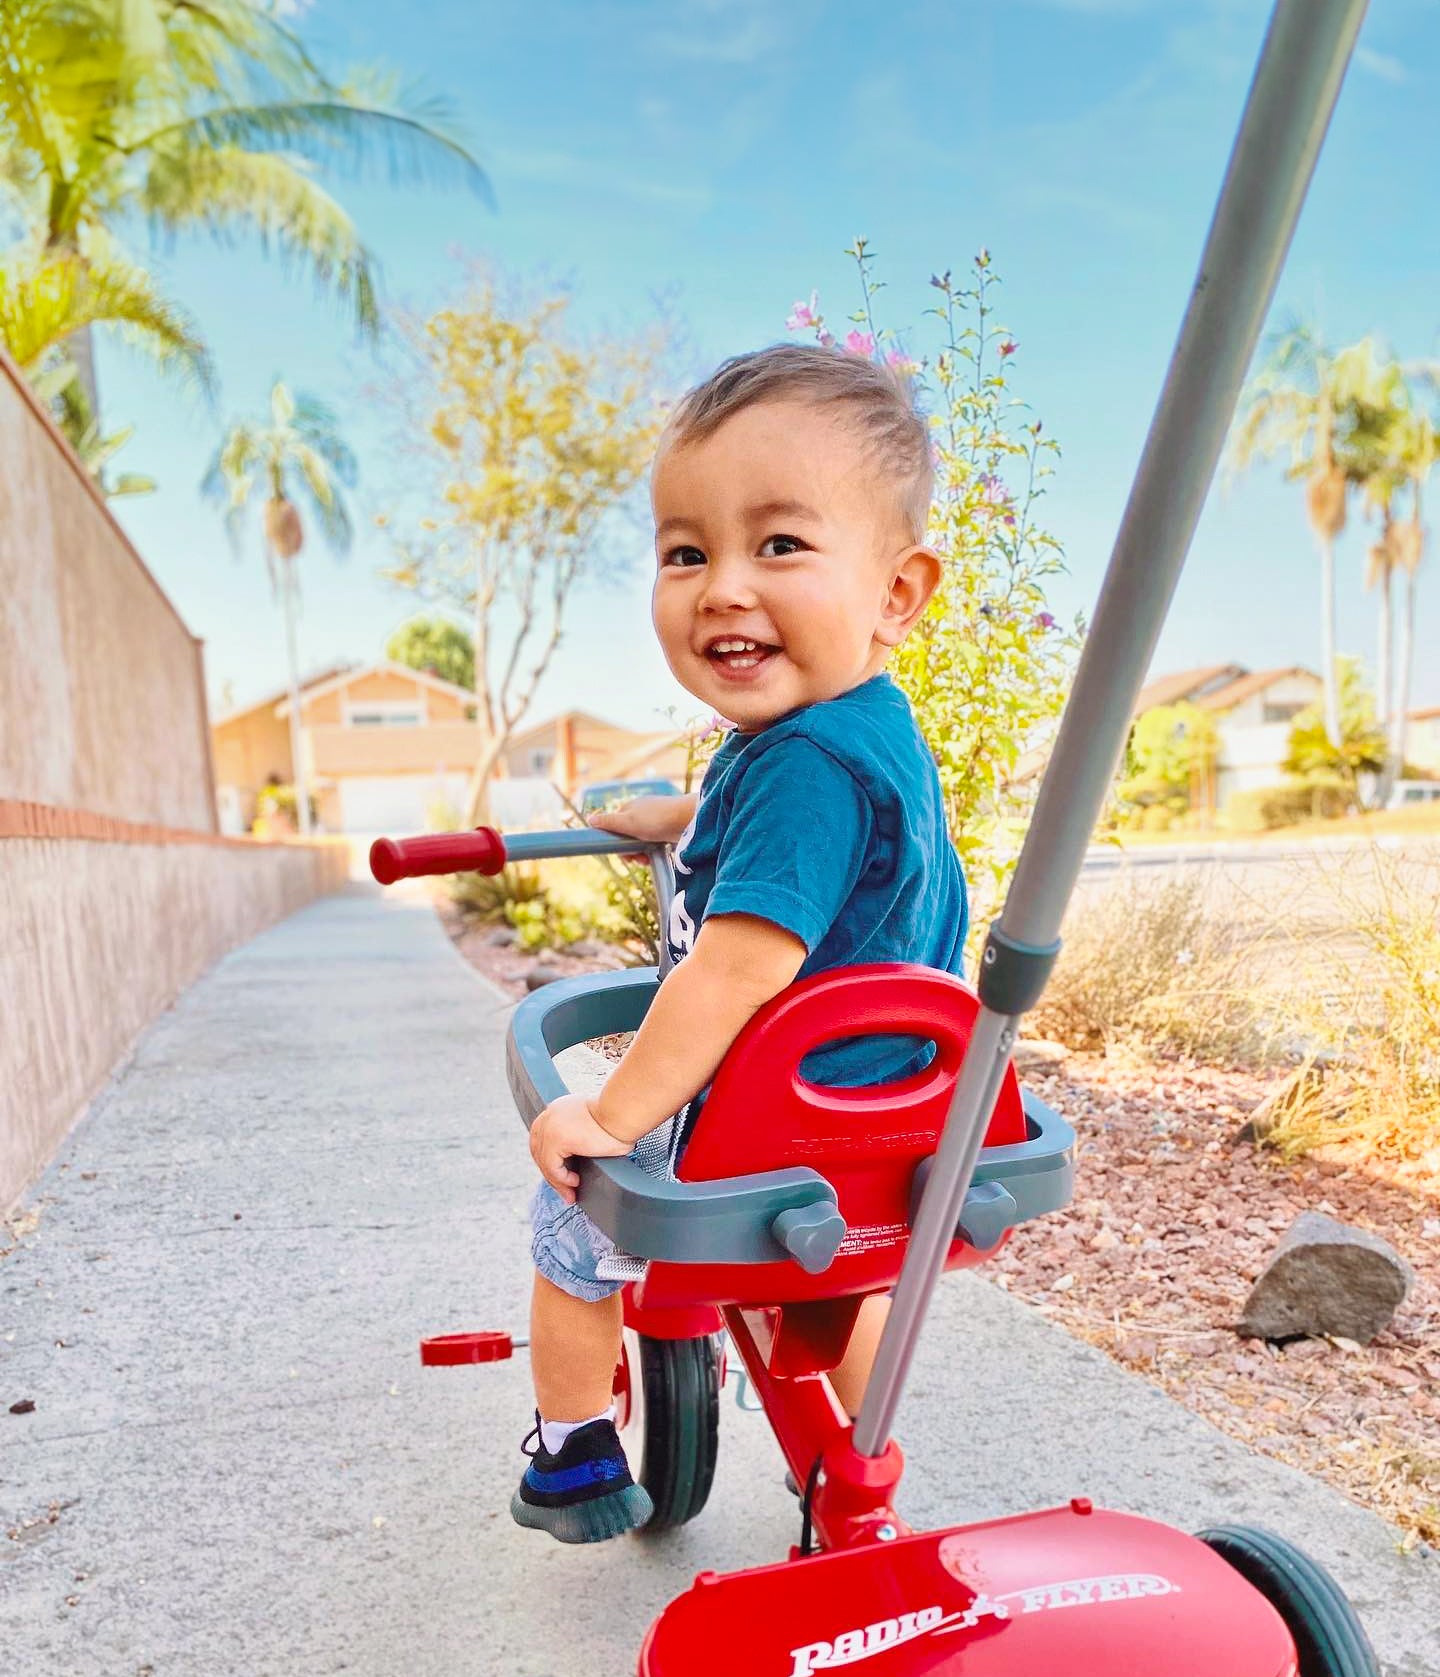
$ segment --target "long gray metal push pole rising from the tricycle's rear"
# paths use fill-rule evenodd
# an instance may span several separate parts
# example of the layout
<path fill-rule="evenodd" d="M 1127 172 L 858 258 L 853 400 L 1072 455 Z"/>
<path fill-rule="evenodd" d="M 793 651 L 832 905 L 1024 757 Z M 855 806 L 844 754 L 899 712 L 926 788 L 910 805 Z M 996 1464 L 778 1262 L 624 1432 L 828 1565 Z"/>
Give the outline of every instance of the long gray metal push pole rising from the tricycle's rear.
<path fill-rule="evenodd" d="M 863 1456 L 878 1456 L 890 1437 L 1016 1023 L 1039 999 L 1059 953 L 1059 924 L 1125 748 L 1365 3 L 1279 0 L 1271 18 L 1064 721 L 986 942 L 981 1013 L 855 1424 Z"/>

